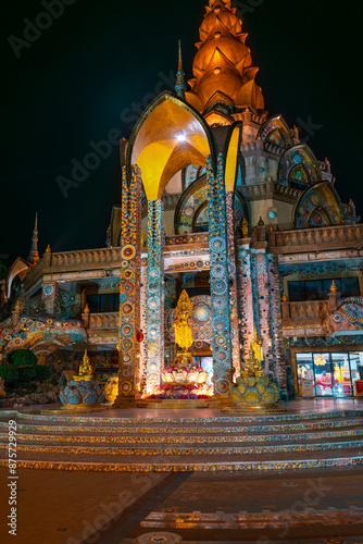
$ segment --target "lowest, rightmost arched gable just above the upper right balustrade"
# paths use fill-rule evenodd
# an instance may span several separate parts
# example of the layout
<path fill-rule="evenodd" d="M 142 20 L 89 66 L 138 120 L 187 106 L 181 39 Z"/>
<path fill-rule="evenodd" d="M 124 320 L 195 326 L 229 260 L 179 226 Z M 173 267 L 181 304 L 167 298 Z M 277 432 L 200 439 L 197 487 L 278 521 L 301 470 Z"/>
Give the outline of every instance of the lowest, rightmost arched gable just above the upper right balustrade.
<path fill-rule="evenodd" d="M 345 222 L 345 214 L 333 185 L 323 182 L 305 190 L 295 209 L 295 227 L 338 225 Z"/>

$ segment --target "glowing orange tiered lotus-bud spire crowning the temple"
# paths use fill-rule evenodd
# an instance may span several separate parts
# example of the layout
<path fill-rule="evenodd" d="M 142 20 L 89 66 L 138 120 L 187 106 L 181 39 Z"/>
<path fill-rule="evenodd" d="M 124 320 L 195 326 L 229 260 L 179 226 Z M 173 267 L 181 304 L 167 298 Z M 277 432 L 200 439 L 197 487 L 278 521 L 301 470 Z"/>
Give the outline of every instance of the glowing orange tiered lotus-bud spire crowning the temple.
<path fill-rule="evenodd" d="M 252 66 L 250 49 L 245 41 L 242 22 L 230 8 L 230 1 L 210 0 L 200 26 L 200 41 L 196 44 L 191 91 L 186 99 L 200 112 L 216 102 L 225 102 L 230 110 L 251 107 L 263 110 L 261 88 L 254 78 L 259 71 Z"/>

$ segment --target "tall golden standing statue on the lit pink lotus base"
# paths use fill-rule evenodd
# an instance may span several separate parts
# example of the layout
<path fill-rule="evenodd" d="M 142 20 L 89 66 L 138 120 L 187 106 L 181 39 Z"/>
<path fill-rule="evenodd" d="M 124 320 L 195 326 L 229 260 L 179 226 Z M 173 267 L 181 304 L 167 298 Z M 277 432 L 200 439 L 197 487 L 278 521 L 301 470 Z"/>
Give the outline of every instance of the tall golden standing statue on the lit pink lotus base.
<path fill-rule="evenodd" d="M 175 364 L 179 367 L 193 366 L 195 361 L 188 349 L 192 345 L 191 326 L 191 302 L 188 293 L 184 289 L 178 304 L 176 306 L 176 322 L 172 326 L 175 333 L 175 344 L 177 344 L 182 351 L 178 351 L 175 357 Z"/>

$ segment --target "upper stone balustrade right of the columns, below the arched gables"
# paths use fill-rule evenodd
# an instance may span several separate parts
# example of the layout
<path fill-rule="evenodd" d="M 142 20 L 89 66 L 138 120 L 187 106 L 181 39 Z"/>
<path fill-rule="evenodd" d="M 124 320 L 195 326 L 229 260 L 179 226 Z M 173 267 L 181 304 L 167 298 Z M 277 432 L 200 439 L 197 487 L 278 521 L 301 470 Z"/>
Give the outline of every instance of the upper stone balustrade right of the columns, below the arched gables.
<path fill-rule="evenodd" d="M 290 247 L 293 249 L 297 249 L 298 246 L 308 246 L 309 248 L 316 248 L 316 246 L 345 247 L 356 245 L 356 242 L 363 246 L 363 224 L 268 233 L 270 246 L 285 248 L 285 252 Z"/>

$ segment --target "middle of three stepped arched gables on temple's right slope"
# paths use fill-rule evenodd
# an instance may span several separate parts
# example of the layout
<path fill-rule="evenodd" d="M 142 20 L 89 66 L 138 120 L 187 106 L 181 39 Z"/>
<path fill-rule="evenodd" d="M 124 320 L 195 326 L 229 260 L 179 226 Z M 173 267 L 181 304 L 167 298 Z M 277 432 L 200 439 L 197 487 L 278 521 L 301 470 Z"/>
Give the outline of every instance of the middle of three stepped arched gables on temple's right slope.
<path fill-rule="evenodd" d="M 297 189 L 305 189 L 322 181 L 318 162 L 309 146 L 299 144 L 285 151 L 278 163 L 277 181 Z"/>

